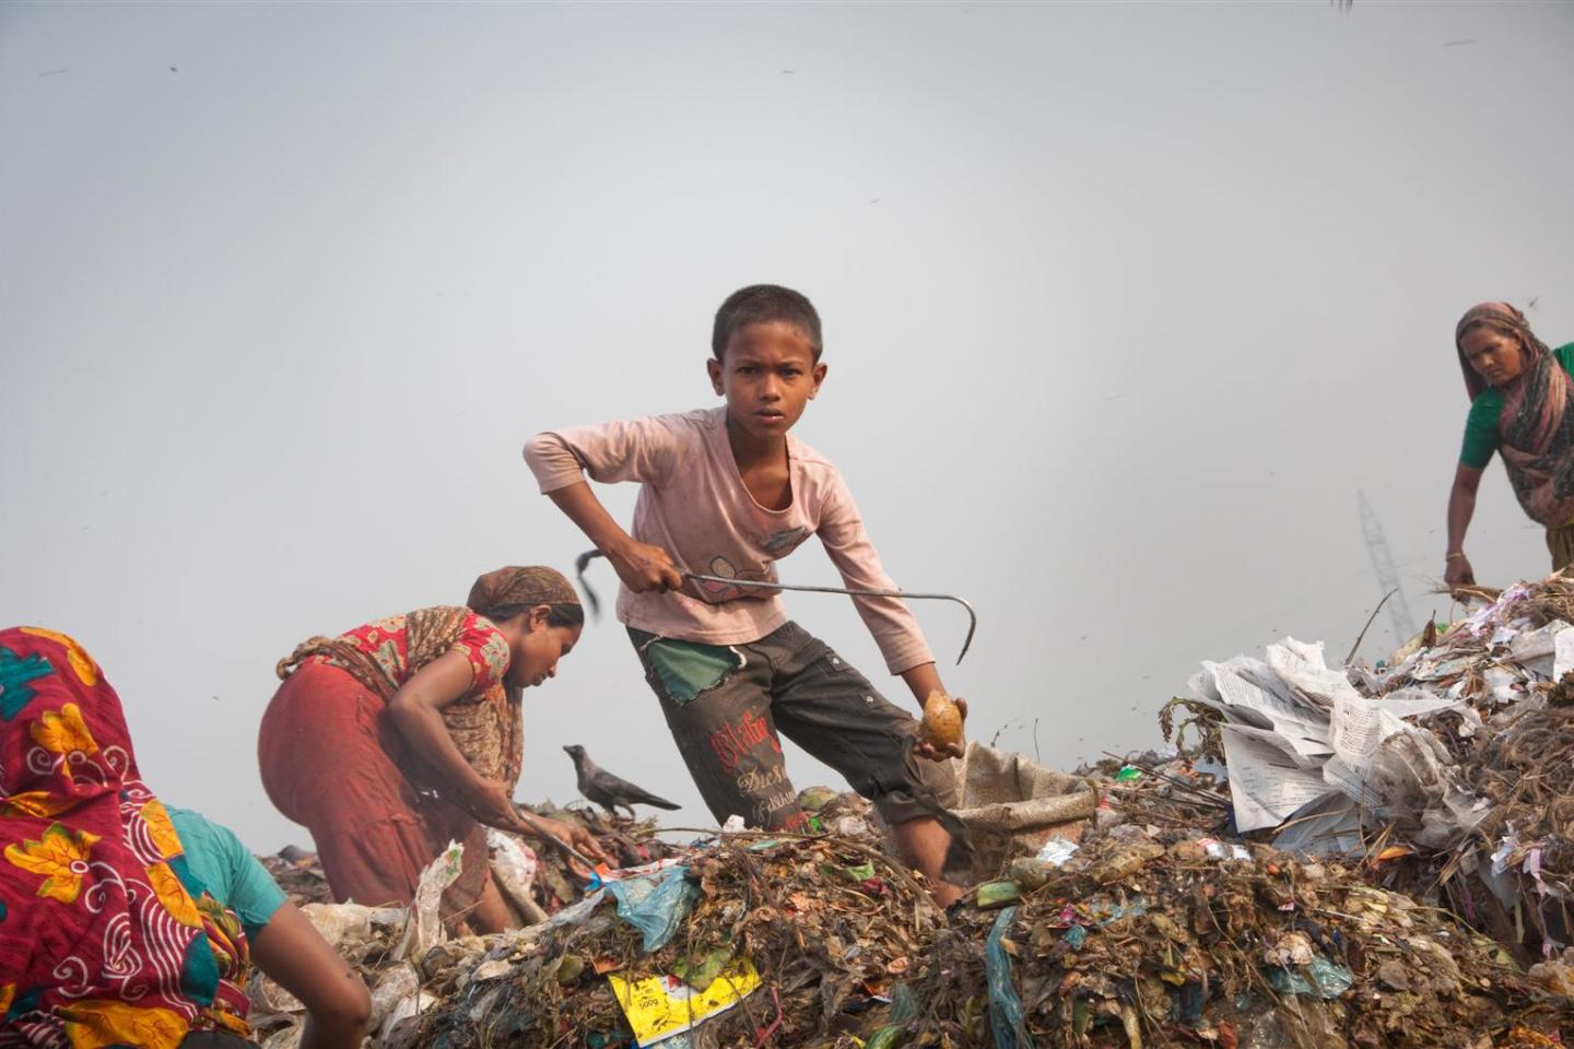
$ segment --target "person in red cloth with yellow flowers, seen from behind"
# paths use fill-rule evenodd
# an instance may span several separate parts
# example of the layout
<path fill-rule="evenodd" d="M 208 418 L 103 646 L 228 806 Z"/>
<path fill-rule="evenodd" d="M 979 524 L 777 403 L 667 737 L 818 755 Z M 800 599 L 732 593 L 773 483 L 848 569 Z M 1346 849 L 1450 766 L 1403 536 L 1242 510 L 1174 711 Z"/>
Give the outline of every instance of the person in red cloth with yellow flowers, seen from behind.
<path fill-rule="evenodd" d="M 353 1049 L 370 999 L 235 835 L 142 782 L 115 689 L 63 634 L 0 631 L 0 1044 L 250 1046 L 247 963 Z"/>

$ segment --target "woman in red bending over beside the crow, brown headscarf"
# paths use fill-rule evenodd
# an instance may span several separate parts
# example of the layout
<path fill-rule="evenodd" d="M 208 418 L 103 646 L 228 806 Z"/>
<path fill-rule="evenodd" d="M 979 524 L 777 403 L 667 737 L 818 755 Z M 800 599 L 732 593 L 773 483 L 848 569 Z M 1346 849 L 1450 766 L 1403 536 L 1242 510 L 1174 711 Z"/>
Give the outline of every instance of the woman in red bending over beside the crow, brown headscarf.
<path fill-rule="evenodd" d="M 313 637 L 279 664 L 258 758 L 274 805 L 316 841 L 335 898 L 408 904 L 450 840 L 464 867 L 444 893 L 450 923 L 496 933 L 518 920 L 486 867 L 482 824 L 540 837 L 519 819 L 519 694 L 556 676 L 584 609 L 551 568 L 501 568 L 466 607 L 420 609 Z M 537 818 L 606 859 L 582 827 Z"/>

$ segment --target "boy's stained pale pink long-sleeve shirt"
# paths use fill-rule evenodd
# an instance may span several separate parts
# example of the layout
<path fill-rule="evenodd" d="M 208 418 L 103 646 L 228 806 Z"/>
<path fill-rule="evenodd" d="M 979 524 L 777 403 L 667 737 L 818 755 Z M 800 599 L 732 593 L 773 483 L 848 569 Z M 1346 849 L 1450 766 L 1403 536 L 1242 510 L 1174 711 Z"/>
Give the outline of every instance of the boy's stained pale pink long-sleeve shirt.
<path fill-rule="evenodd" d="M 743 484 L 727 440 L 727 409 L 653 415 L 537 434 L 524 445 L 543 492 L 589 473 L 597 481 L 639 481 L 634 527 L 705 576 L 776 582 L 776 561 L 811 535 L 850 588 L 896 590 L 858 516 L 858 505 L 829 459 L 787 434 L 792 505 L 760 506 Z M 688 593 L 633 593 L 622 587 L 617 618 L 628 626 L 689 642 L 756 642 L 787 621 L 781 596 L 759 587 L 691 582 Z M 891 673 L 933 662 L 918 620 L 900 598 L 853 598 Z"/>

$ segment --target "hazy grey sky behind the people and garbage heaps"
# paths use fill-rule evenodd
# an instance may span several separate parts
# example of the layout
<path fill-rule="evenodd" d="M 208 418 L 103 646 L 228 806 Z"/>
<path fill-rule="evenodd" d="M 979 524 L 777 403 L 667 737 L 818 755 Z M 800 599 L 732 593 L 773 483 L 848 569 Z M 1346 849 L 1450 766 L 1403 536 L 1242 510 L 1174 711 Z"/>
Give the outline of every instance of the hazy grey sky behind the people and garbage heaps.
<path fill-rule="evenodd" d="M 568 568 L 524 439 L 711 404 L 716 305 L 779 282 L 825 318 L 800 436 L 977 604 L 971 731 L 1147 745 L 1199 659 L 1343 656 L 1357 491 L 1445 610 L 1453 322 L 1574 340 L 1571 46 L 1568 3 L 0 6 L 0 621 L 98 656 L 170 802 L 304 841 L 274 662 Z M 1467 549 L 1547 568 L 1495 464 Z M 526 719 L 519 797 L 581 742 L 708 821 L 615 624 Z"/>

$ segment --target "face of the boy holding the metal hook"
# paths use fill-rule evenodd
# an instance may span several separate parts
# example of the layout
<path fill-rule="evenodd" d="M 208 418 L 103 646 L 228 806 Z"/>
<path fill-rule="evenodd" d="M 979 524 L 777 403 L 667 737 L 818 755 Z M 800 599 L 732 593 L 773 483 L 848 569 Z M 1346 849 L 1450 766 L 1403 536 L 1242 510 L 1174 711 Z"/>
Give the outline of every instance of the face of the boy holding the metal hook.
<path fill-rule="evenodd" d="M 748 324 L 727 340 L 721 360 L 705 362 L 710 384 L 727 398 L 727 414 L 751 437 L 782 437 L 825 382 L 825 365 L 796 326 Z"/>

